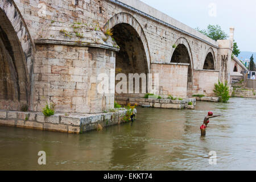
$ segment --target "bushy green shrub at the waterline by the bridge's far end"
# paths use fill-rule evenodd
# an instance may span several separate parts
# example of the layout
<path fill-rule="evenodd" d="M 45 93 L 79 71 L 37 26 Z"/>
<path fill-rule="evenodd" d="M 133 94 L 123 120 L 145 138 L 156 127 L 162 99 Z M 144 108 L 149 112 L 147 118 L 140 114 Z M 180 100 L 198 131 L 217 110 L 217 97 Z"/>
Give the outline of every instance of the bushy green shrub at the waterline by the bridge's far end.
<path fill-rule="evenodd" d="M 225 84 L 218 81 L 218 84 L 214 84 L 214 90 L 213 92 L 217 95 L 217 97 L 220 98 L 219 102 L 228 102 L 230 96 L 229 96 L 229 87 L 228 82 L 226 81 Z"/>

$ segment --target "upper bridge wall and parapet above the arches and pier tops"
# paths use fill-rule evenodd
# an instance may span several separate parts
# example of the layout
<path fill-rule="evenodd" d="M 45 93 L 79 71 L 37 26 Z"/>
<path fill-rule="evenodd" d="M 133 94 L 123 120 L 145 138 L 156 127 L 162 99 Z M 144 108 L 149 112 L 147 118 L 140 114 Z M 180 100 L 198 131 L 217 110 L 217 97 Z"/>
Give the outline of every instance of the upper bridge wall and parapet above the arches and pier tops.
<path fill-rule="evenodd" d="M 47 23 L 51 23 L 52 20 L 56 22 L 67 22 L 67 20 L 69 20 L 69 22 L 84 23 L 97 21 L 100 26 L 103 27 L 115 14 L 127 13 L 123 18 L 125 20 L 123 23 L 129 21 L 130 16 L 133 16 L 138 21 L 139 24 L 135 26 L 134 29 L 138 31 L 139 28 L 142 28 L 144 35 L 146 36 L 146 43 L 148 46 L 148 48 L 145 49 L 149 50 L 148 54 L 150 55 L 147 59 L 150 59 L 151 63 L 170 63 L 172 53 L 174 52 L 174 48 L 172 48 L 172 46 L 177 43 L 179 38 L 183 38 L 188 42 L 187 49 L 192 55 L 191 60 L 193 62 L 193 68 L 203 69 L 204 61 L 207 57 L 207 51 L 210 47 L 212 47 L 214 51 L 214 57 L 217 57 L 217 42 L 214 42 L 214 40 L 200 34 L 193 28 L 185 26 L 184 24 L 177 22 L 177 20 L 160 13 L 141 1 L 133 0 L 123 2 L 134 6 L 137 9 L 141 9 L 152 16 L 156 16 L 164 22 L 174 24 L 174 26 L 187 31 L 190 34 L 199 36 L 201 39 L 207 40 L 210 44 L 201 42 L 198 39 L 185 35 L 182 32 L 165 26 L 164 24 L 156 23 L 154 20 L 118 6 L 110 1 L 86 0 L 79 1 L 78 5 L 72 5 L 72 0 L 42 0 L 40 2 L 34 0 L 30 0 L 28 2 L 19 0 L 14 1 L 26 20 L 32 38 L 34 38 Z M 40 13 L 44 13 L 44 7 L 46 7 L 46 15 L 39 16 Z M 119 23 L 121 23 L 120 20 Z M 216 47 L 213 47 L 212 44 Z"/>

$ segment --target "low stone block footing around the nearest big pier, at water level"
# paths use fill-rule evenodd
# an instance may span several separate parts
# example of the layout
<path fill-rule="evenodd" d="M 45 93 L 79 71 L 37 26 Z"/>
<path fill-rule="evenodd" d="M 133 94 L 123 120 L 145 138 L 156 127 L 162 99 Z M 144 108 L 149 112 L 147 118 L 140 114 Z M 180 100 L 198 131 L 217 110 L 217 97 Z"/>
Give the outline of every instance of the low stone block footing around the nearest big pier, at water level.
<path fill-rule="evenodd" d="M 81 134 L 96 130 L 97 125 L 108 127 L 125 122 L 122 118 L 125 117 L 126 112 L 126 109 L 116 109 L 112 113 L 56 113 L 45 117 L 42 113 L 36 112 L 0 110 L 0 125 Z"/>

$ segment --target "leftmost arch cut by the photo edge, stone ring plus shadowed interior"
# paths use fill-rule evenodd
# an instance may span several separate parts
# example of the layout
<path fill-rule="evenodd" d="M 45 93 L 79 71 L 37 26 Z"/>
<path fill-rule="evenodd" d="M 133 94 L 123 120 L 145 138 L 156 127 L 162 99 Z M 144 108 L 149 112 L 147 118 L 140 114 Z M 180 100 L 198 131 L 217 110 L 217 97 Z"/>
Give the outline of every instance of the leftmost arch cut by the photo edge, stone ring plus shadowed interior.
<path fill-rule="evenodd" d="M 18 110 L 30 104 L 35 46 L 13 0 L 0 2 L 1 108 Z"/>

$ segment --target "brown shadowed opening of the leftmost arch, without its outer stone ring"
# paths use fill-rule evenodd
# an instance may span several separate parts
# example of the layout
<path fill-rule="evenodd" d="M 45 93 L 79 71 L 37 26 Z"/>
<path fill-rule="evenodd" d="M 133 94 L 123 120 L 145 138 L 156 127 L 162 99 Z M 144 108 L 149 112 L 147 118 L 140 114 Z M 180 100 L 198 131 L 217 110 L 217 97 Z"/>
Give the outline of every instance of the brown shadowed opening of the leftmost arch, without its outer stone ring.
<path fill-rule="evenodd" d="M 29 105 L 30 75 L 27 71 L 26 59 L 30 59 L 31 55 L 25 55 L 23 52 L 18 30 L 13 24 L 20 20 L 16 12 L 18 10 L 11 3 L 8 1 L 4 5 L 8 6 L 6 9 L 15 16 L 6 12 L 5 6 L 3 9 L 0 8 L 0 109 L 18 110 L 22 105 Z M 11 22 L 10 18 L 18 20 Z M 19 28 L 23 29 L 22 26 Z M 23 43 L 26 43 L 26 40 L 23 39 Z"/>

